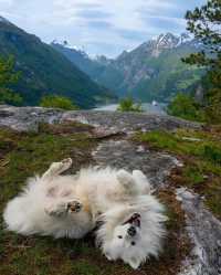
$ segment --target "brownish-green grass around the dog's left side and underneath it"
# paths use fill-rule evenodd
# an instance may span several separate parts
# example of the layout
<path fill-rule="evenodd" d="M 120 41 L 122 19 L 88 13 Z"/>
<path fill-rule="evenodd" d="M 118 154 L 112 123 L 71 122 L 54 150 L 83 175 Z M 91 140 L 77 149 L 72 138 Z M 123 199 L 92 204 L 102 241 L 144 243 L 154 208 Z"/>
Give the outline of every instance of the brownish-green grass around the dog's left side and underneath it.
<path fill-rule="evenodd" d="M 187 252 L 180 247 L 182 214 L 171 195 L 162 198 L 170 211 L 165 253 L 159 260 L 151 258 L 140 271 L 133 271 L 123 262 L 108 262 L 95 247 L 93 235 L 78 241 L 53 240 L 21 236 L 4 230 L 2 211 L 20 192 L 27 178 L 41 174 L 51 162 L 66 157 L 73 159 L 70 172 L 74 173 L 82 166 L 93 163 L 91 151 L 96 146 L 92 128 L 81 124 L 41 125 L 39 133 L 23 134 L 0 129 L 0 275 L 177 274 Z"/>

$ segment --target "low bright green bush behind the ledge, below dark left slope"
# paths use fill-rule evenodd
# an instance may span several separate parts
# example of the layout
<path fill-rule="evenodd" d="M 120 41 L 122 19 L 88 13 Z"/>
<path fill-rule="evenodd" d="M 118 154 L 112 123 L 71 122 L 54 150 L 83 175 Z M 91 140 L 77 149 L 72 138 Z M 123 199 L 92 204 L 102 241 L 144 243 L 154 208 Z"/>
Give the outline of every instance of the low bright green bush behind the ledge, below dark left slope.
<path fill-rule="evenodd" d="M 40 106 L 45 108 L 61 108 L 66 110 L 78 109 L 78 107 L 73 104 L 70 98 L 57 95 L 43 96 L 40 102 Z"/>

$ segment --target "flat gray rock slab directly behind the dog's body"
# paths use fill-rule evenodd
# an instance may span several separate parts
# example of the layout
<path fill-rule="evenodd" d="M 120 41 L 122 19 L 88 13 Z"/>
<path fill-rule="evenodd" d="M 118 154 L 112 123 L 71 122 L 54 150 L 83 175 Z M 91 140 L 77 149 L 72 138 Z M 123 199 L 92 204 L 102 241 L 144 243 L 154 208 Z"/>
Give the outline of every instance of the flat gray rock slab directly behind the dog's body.
<path fill-rule="evenodd" d="M 169 171 L 177 166 L 176 158 L 160 152 L 150 152 L 124 139 L 102 142 L 93 157 L 99 167 L 110 166 L 128 171 L 141 170 L 154 189 L 164 187 Z"/>

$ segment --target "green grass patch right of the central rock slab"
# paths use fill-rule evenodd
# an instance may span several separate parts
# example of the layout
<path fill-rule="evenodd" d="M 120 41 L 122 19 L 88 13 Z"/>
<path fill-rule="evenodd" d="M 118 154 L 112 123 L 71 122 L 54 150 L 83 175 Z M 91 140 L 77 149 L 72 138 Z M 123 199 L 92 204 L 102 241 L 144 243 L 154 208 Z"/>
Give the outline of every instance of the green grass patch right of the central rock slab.
<path fill-rule="evenodd" d="M 188 139 L 189 138 L 189 139 Z M 191 139 L 194 140 L 191 140 Z M 185 167 L 175 177 L 178 184 L 206 197 L 206 204 L 221 219 L 221 136 L 214 131 L 179 129 L 175 133 L 137 134 L 136 139 L 150 148 L 182 159 Z"/>

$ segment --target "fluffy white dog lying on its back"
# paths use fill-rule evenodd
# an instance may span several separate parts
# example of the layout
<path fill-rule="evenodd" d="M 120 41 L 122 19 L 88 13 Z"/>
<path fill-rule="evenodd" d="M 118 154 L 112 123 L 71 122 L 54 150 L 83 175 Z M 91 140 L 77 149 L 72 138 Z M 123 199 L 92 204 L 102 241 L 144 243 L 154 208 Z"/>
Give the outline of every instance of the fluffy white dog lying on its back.
<path fill-rule="evenodd" d="M 96 243 L 109 261 L 120 258 L 138 268 L 150 255 L 158 256 L 167 218 L 145 174 L 88 168 L 61 176 L 71 165 L 71 159 L 54 162 L 41 178 L 29 180 L 4 210 L 8 229 L 81 239 L 98 223 Z"/>

